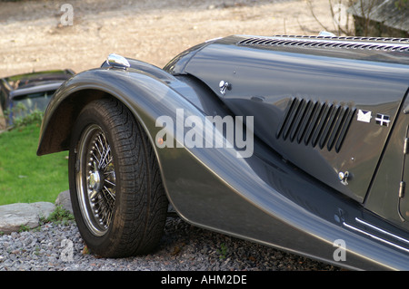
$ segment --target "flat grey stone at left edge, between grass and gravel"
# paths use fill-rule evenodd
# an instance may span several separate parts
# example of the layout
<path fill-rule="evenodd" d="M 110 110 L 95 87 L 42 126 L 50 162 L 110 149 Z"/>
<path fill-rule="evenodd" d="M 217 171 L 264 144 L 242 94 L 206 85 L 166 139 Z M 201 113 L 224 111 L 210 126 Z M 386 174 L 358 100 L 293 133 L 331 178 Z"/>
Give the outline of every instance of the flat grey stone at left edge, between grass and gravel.
<path fill-rule="evenodd" d="M 41 217 L 49 217 L 54 211 L 55 205 L 49 202 L 0 206 L 0 232 L 9 234 L 22 227 L 34 228 L 39 226 Z"/>

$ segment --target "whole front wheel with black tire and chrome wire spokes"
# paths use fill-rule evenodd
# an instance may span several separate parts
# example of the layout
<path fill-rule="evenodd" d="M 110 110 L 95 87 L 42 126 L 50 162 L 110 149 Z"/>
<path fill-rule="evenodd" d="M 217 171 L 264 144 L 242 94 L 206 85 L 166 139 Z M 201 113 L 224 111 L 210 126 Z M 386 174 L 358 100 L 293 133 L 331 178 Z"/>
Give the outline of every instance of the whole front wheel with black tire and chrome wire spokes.
<path fill-rule="evenodd" d="M 80 112 L 69 152 L 75 221 L 95 255 L 142 255 L 164 232 L 167 198 L 154 150 L 132 114 L 115 100 Z"/>

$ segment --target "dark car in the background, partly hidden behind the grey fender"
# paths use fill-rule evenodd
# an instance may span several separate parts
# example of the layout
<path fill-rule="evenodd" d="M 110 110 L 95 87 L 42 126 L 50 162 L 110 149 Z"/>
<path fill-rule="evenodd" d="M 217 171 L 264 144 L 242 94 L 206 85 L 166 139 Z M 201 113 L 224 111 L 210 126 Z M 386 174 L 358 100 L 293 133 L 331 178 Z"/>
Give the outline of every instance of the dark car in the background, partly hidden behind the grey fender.
<path fill-rule="evenodd" d="M 16 117 L 45 111 L 52 95 L 75 72 L 70 69 L 29 72 L 0 79 L 0 104 L 9 124 Z"/>

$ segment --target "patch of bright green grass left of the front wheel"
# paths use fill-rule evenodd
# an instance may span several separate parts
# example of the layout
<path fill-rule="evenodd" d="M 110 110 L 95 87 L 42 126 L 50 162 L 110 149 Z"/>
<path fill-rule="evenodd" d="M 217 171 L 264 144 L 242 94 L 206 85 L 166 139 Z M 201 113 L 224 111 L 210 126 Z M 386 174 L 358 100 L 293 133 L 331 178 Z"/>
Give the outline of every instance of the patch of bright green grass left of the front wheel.
<path fill-rule="evenodd" d="M 68 152 L 38 157 L 38 123 L 0 134 L 0 205 L 55 202 L 68 189 Z"/>

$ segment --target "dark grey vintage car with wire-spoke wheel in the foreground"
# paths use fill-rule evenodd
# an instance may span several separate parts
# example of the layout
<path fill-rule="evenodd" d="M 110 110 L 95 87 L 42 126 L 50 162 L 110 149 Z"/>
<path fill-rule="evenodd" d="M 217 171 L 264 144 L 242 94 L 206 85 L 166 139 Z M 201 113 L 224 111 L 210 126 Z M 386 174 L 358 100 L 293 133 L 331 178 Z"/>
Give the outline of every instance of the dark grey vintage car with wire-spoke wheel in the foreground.
<path fill-rule="evenodd" d="M 194 226 L 353 270 L 409 269 L 409 39 L 232 35 L 164 68 L 110 54 L 50 101 L 95 255 Z M 408 157 L 409 158 L 409 157 Z"/>

